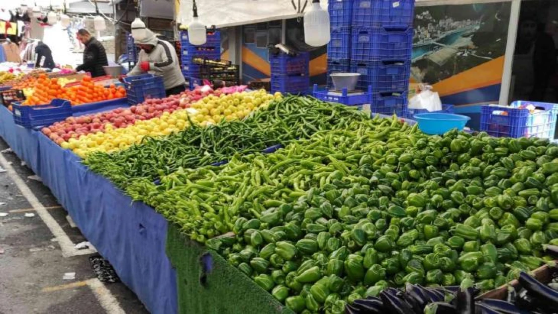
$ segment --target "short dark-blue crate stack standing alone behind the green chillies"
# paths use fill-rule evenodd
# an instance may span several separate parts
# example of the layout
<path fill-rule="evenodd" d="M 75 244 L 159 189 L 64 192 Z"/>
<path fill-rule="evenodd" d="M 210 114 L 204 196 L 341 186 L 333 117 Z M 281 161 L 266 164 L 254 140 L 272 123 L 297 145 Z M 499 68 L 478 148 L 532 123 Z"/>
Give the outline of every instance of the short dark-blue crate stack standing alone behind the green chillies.
<path fill-rule="evenodd" d="M 306 94 L 310 88 L 310 54 L 270 54 L 271 93 Z"/>

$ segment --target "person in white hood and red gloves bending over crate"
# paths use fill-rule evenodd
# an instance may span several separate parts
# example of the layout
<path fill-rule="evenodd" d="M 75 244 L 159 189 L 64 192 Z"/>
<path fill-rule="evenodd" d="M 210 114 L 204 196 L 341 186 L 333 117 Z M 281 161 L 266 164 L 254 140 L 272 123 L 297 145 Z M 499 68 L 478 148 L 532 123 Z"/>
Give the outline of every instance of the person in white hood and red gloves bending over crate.
<path fill-rule="evenodd" d="M 186 81 L 180 71 L 178 56 L 170 42 L 160 40 L 151 30 L 146 30 L 146 37 L 137 40 L 136 44 L 141 48 L 138 62 L 127 76 L 144 73 L 162 75 L 167 96 L 186 90 Z"/>

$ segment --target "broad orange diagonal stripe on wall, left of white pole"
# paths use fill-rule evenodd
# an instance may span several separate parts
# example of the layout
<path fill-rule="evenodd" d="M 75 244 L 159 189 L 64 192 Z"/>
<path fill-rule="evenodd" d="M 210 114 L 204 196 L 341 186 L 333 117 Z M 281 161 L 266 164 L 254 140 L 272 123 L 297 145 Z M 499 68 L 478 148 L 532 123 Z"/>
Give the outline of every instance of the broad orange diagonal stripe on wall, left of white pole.
<path fill-rule="evenodd" d="M 502 83 L 503 69 L 504 56 L 501 56 L 451 76 L 451 78 L 436 83 L 432 87 L 440 96 L 445 96 L 499 84 Z"/>

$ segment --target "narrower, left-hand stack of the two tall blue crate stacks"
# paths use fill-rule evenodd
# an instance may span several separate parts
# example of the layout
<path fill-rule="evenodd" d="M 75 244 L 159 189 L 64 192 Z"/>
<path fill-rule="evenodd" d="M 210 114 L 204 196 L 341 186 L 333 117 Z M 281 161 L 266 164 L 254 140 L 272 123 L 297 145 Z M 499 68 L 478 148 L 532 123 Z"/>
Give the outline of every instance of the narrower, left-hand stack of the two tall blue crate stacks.
<path fill-rule="evenodd" d="M 351 23 L 354 0 L 330 1 L 328 6 L 331 40 L 328 44 L 328 87 L 333 88 L 330 74 L 348 73 L 351 59 Z"/>

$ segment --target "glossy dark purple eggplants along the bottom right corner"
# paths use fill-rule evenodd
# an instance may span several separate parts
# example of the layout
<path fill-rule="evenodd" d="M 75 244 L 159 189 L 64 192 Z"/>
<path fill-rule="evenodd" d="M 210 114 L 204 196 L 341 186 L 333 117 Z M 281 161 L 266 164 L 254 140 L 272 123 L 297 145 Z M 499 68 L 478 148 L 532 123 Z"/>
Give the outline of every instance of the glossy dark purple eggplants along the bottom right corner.
<path fill-rule="evenodd" d="M 557 247 L 558 248 L 558 247 Z M 547 250 L 548 251 L 548 250 Z M 558 251 L 557 251 L 558 252 Z M 558 270 L 553 268 L 552 283 Z M 378 297 L 357 299 L 345 306 L 346 314 L 528 314 L 558 313 L 558 291 L 529 274 L 519 274 L 519 285 L 509 287 L 506 300 L 479 298 L 480 289 L 462 283 L 461 287 L 422 287 L 407 283 L 405 290 L 388 288 Z"/>

